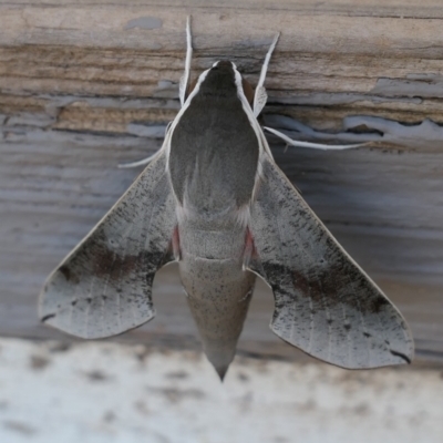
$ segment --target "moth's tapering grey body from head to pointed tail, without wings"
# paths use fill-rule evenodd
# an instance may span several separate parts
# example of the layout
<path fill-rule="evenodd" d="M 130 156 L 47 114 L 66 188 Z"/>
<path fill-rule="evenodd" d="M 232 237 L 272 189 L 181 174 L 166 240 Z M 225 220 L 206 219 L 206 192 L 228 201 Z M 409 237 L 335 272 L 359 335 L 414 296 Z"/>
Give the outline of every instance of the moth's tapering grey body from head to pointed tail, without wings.
<path fill-rule="evenodd" d="M 182 282 L 204 350 L 224 377 L 256 278 L 244 262 L 259 144 L 230 62 L 217 63 L 196 87 L 172 135 L 168 173 Z"/>

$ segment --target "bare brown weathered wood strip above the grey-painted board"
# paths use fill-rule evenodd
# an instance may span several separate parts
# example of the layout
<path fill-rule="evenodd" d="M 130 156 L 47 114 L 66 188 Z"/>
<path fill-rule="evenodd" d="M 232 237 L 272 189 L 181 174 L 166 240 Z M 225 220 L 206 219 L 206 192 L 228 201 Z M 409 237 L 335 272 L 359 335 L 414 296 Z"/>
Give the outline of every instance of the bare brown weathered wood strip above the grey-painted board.
<path fill-rule="evenodd" d="M 169 120 L 168 103 L 152 99 L 176 96 L 188 13 L 195 72 L 230 58 L 254 81 L 274 33 L 282 32 L 268 111 L 321 130 L 352 114 L 443 122 L 439 0 L 2 0 L 0 109 L 49 114 L 54 127 L 69 130 L 121 133 L 127 122 Z"/>

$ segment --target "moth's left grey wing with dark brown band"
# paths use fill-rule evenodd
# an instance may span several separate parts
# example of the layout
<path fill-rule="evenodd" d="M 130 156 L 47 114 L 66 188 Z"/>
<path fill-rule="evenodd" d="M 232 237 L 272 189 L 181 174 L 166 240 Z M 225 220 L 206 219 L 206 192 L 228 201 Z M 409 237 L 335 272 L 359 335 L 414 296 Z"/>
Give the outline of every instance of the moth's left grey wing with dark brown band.
<path fill-rule="evenodd" d="M 175 197 L 165 157 L 152 162 L 95 228 L 48 278 L 43 322 L 83 338 L 109 337 L 154 315 L 154 275 L 173 260 Z"/>

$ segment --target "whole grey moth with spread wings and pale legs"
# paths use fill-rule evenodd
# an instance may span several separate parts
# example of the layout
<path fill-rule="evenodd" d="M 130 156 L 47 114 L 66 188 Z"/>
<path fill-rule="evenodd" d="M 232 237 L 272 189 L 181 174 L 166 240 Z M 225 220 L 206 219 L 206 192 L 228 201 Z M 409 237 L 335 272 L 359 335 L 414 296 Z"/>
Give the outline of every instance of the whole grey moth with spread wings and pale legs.
<path fill-rule="evenodd" d="M 257 276 L 271 288 L 271 330 L 348 369 L 410 363 L 413 339 L 399 310 L 338 244 L 276 165 L 255 90 L 230 61 L 190 84 L 187 22 L 182 109 L 146 168 L 50 275 L 41 320 L 96 339 L 150 321 L 156 271 L 178 261 L 203 349 L 220 379 L 234 359 Z M 295 145 L 324 147 L 306 142 Z M 353 147 L 332 146 L 333 148 Z"/>

